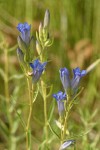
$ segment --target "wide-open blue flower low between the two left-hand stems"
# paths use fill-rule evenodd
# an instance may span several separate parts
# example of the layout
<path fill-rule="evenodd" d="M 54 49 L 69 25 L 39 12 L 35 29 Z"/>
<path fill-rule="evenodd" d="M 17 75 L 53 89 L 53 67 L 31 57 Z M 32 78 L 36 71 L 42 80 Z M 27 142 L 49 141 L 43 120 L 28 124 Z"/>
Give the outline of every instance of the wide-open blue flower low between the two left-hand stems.
<path fill-rule="evenodd" d="M 33 69 L 32 73 L 33 83 L 36 83 L 39 80 L 42 72 L 46 67 L 46 64 L 47 62 L 40 63 L 38 59 L 34 60 L 33 63 L 30 63 L 31 68 Z"/>

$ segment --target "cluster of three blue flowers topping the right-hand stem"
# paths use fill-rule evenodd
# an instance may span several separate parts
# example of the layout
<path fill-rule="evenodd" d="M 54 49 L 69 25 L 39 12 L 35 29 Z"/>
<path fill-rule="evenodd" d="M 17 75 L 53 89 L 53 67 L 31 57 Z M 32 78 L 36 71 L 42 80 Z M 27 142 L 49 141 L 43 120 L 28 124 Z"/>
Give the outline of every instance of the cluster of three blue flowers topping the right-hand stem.
<path fill-rule="evenodd" d="M 61 114 L 64 111 L 64 100 L 67 100 L 67 95 L 69 95 L 69 91 L 72 93 L 72 97 L 77 93 L 80 80 L 83 76 L 86 75 L 86 70 L 80 70 L 80 68 L 73 69 L 73 78 L 70 79 L 69 70 L 67 68 L 61 68 L 60 79 L 62 85 L 64 87 L 65 93 L 59 91 L 57 94 L 53 94 L 53 97 L 56 99 L 58 104 L 58 111 Z"/>

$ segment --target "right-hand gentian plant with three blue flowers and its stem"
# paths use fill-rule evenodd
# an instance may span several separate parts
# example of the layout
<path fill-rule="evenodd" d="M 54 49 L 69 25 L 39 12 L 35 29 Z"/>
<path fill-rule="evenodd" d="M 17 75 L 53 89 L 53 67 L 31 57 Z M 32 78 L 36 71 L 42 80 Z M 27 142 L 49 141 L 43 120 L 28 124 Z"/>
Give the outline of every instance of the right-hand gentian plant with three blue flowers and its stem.
<path fill-rule="evenodd" d="M 74 104 L 74 97 L 77 96 L 80 80 L 86 75 L 86 70 L 80 70 L 80 68 L 73 69 L 73 78 L 70 78 L 69 70 L 67 68 L 61 68 L 60 79 L 65 90 L 65 93 L 58 92 L 53 94 L 53 97 L 57 100 L 58 111 L 60 115 L 61 123 L 61 147 L 60 150 L 66 149 L 74 142 L 72 140 L 64 142 L 66 140 L 66 131 L 68 131 L 68 117 L 70 110 Z M 64 101 L 66 99 L 66 101 Z M 63 116 L 61 115 L 64 112 Z M 69 132 L 67 132 L 69 133 Z M 63 143 L 64 142 L 64 143 Z M 62 144 L 63 143 L 63 144 Z"/>

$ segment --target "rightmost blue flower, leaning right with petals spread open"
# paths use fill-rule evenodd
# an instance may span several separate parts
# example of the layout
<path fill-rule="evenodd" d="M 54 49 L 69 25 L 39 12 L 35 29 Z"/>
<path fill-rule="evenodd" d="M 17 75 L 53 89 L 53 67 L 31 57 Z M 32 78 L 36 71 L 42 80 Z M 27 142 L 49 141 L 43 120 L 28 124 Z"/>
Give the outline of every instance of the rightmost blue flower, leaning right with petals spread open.
<path fill-rule="evenodd" d="M 80 68 L 73 69 L 74 77 L 71 81 L 71 87 L 73 90 L 77 89 L 80 83 L 80 79 L 86 75 L 86 70 L 80 70 Z"/>

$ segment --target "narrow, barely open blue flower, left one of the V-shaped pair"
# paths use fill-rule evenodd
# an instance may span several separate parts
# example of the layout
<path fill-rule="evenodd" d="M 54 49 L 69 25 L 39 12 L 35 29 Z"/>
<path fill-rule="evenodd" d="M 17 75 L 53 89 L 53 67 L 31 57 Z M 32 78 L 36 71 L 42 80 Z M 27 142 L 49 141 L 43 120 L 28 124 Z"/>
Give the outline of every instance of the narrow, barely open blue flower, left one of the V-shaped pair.
<path fill-rule="evenodd" d="M 60 72 L 61 82 L 63 84 L 65 91 L 67 92 L 67 90 L 71 88 L 69 71 L 67 68 L 61 68 L 59 72 Z"/>

